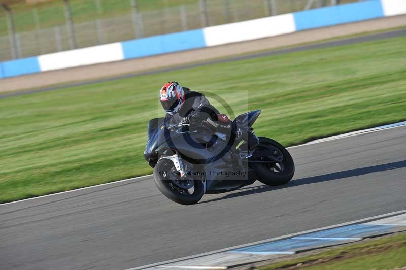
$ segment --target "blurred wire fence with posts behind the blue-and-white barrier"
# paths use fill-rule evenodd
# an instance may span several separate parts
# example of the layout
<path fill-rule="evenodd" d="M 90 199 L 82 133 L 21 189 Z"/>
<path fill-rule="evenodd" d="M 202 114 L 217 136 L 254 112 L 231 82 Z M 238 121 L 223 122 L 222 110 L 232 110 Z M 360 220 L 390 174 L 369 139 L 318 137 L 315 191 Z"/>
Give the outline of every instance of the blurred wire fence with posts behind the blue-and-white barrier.
<path fill-rule="evenodd" d="M 39 22 L 41 14 L 38 14 L 37 9 L 32 9 L 31 14 L 25 15 L 33 19 L 34 25 L 31 30 L 15 30 L 13 23 L 8 20 L 11 19 L 8 15 L 13 14 L 12 10 L 0 14 L 0 19 L 8 25 L 8 33 L 0 36 L 0 61 L 359 0 L 199 0 L 191 4 L 143 12 L 138 10 L 136 0 L 127 0 L 130 2 L 127 14 L 106 17 L 100 10 L 95 10 L 99 16 L 85 22 L 76 22 L 75 13 L 71 13 L 69 2 L 63 1 L 66 4 L 64 16 L 53 26 L 41 26 Z M 95 1 L 95 7 L 100 7 L 101 1 L 110 0 L 85 1 Z M 83 21 L 86 18 L 78 20 Z"/>

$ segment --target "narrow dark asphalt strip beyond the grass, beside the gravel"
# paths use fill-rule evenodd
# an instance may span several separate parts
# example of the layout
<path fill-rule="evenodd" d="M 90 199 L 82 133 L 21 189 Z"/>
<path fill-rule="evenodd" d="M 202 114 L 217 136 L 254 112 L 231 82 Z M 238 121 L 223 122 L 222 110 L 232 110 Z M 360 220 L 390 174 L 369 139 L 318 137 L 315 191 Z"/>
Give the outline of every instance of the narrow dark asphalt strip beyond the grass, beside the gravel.
<path fill-rule="evenodd" d="M 373 33 L 373 34 L 369 34 L 369 35 L 365 35 L 365 36 L 345 38 L 345 39 L 339 39 L 339 40 L 333 40 L 333 41 L 318 42 L 316 44 L 301 45 L 301 46 L 295 46 L 295 47 L 290 47 L 290 48 L 280 49 L 280 50 L 256 52 L 256 53 L 250 53 L 250 54 L 245 54 L 245 55 L 240 55 L 240 56 L 227 57 L 227 58 L 222 58 L 222 59 L 214 59 L 214 60 L 208 60 L 208 61 L 204 61 L 204 62 L 179 65 L 179 66 L 175 66 L 175 67 L 165 67 L 162 69 L 156 69 L 153 71 L 147 71 L 147 72 L 142 72 L 142 73 L 125 74 L 125 75 L 113 76 L 113 77 L 109 77 L 109 78 L 69 83 L 69 84 L 58 85 L 58 86 L 49 86 L 49 87 L 38 88 L 38 89 L 8 92 L 8 93 L 0 94 L 0 99 L 7 98 L 7 97 L 13 97 L 13 96 L 19 96 L 19 95 L 25 95 L 25 94 L 54 91 L 54 90 L 58 90 L 58 89 L 88 85 L 88 84 L 92 84 L 92 83 L 101 83 L 101 82 L 108 82 L 108 81 L 120 80 L 120 79 L 125 79 L 125 78 L 132 78 L 132 77 L 137 77 L 137 76 L 158 74 L 158 73 L 168 72 L 168 71 L 184 70 L 184 69 L 190 69 L 192 67 L 216 64 L 216 63 L 233 62 L 233 61 L 259 58 L 259 57 L 270 56 L 270 55 L 280 55 L 280 54 L 299 52 L 299 51 L 308 51 L 308 50 L 330 48 L 330 47 L 336 47 L 336 46 L 342 46 L 342 45 L 351 45 L 351 44 L 356 44 L 356 43 L 385 40 L 385 39 L 397 38 L 397 37 L 403 37 L 403 36 L 406 36 L 406 29 Z"/>

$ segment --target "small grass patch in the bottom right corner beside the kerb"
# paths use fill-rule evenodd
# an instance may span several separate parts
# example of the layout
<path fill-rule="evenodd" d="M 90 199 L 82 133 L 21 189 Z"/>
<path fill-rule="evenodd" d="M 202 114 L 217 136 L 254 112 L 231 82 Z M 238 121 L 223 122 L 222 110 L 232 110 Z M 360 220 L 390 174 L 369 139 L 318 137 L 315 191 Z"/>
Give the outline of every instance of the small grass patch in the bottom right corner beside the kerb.
<path fill-rule="evenodd" d="M 275 269 L 396 269 L 406 266 L 406 233 L 364 243 L 333 248 L 319 254 L 273 263 L 260 270 Z"/>

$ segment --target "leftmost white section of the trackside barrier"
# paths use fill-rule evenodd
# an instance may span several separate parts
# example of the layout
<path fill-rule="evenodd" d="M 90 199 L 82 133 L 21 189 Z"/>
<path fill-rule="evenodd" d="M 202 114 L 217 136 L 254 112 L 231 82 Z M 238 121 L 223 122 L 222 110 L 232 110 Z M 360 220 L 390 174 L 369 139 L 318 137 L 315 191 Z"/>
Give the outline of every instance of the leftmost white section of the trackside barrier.
<path fill-rule="evenodd" d="M 41 71 L 59 70 L 67 67 L 113 62 L 123 59 L 124 54 L 120 42 L 38 56 Z"/>

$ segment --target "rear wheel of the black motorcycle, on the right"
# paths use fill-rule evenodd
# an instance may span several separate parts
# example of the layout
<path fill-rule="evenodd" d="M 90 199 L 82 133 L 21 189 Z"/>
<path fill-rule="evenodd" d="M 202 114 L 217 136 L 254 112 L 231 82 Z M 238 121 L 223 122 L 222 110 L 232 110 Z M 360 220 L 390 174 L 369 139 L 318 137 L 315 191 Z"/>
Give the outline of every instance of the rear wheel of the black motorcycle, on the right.
<path fill-rule="evenodd" d="M 255 151 L 264 151 L 267 149 L 266 146 L 273 149 L 269 151 L 272 152 L 270 154 L 275 157 L 274 160 L 262 157 L 261 159 L 257 159 L 257 161 L 260 162 L 256 163 L 255 159 L 252 160 L 253 162 L 250 162 L 251 167 L 257 175 L 258 181 L 269 186 L 279 186 L 288 183 L 295 173 L 295 165 L 292 156 L 280 143 L 265 137 L 259 137 L 259 145 Z M 275 159 L 281 161 L 275 162 Z"/>

